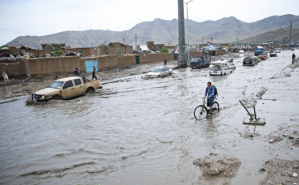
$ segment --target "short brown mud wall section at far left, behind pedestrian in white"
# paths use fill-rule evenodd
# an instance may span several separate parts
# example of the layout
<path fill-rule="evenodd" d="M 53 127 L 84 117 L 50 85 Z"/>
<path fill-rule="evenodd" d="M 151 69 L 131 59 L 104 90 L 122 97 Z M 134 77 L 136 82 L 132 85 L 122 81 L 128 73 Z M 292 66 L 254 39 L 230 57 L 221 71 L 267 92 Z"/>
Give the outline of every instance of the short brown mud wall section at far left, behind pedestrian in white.
<path fill-rule="evenodd" d="M 1 75 L 3 72 L 5 72 L 9 77 L 25 75 L 26 73 L 24 63 L 20 63 L 20 62 L 0 64 L 0 72 Z"/>

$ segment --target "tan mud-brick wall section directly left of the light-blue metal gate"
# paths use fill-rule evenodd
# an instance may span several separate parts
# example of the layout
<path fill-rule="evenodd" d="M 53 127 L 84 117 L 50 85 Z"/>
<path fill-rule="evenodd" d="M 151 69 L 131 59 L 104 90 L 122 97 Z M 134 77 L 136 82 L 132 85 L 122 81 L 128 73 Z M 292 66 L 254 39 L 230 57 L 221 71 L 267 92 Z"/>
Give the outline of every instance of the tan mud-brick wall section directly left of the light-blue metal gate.
<path fill-rule="evenodd" d="M 74 73 L 74 68 L 86 72 L 85 60 L 79 56 L 24 59 L 25 70 L 31 78 L 42 74 Z"/>

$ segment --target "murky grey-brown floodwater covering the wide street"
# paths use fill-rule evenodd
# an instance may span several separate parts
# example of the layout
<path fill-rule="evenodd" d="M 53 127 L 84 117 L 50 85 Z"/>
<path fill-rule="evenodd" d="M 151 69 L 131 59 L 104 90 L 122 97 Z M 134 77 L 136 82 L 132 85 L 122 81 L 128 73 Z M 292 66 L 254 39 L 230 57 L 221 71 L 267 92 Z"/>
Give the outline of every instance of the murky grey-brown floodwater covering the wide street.
<path fill-rule="evenodd" d="M 172 76 L 145 79 L 163 62 L 132 65 L 122 69 L 130 75 L 100 75 L 103 89 L 95 94 L 29 105 L 29 94 L 1 99 L 0 184 L 259 184 L 265 161 L 298 159 L 293 53 L 255 66 L 242 66 L 244 56 L 235 55 L 236 69 L 225 76 L 210 76 L 211 66 L 180 69 L 170 61 Z M 208 81 L 221 109 L 195 119 Z M 9 88 L 1 87 L 2 95 L 13 94 Z M 255 105 L 266 124 L 243 124 L 249 116 L 239 100 L 251 113 Z M 193 161 L 211 153 L 237 158 L 236 175 L 219 183 L 202 178 Z"/>

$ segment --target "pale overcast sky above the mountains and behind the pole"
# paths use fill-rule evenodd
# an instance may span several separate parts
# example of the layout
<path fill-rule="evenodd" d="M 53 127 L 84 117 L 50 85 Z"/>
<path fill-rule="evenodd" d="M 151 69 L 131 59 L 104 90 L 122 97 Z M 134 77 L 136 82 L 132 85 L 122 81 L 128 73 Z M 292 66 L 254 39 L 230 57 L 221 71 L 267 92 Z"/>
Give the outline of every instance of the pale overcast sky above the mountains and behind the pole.
<path fill-rule="evenodd" d="M 190 0 L 184 0 L 185 3 Z M 18 36 L 43 36 L 63 31 L 129 30 L 155 18 L 178 19 L 177 0 L 28 0 L 1 2 L 0 46 Z M 216 21 L 234 16 L 255 22 L 269 16 L 298 15 L 299 0 L 192 0 L 188 19 Z M 184 5 L 187 18 L 187 6 Z M 290 26 L 290 25 L 289 25 Z M 4 31 L 9 30 L 9 31 Z M 17 46 L 18 47 L 18 46 Z"/>

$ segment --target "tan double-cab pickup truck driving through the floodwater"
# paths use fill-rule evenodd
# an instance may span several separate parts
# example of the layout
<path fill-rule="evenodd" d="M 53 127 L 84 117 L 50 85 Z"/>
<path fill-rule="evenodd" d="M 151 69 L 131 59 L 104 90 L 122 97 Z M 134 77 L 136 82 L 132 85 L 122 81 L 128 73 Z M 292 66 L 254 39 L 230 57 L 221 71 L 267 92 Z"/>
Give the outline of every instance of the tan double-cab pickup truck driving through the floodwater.
<path fill-rule="evenodd" d="M 50 87 L 32 93 L 32 100 L 67 99 L 85 93 L 94 93 L 101 88 L 100 80 L 88 80 L 83 76 L 61 78 L 54 81 Z"/>

